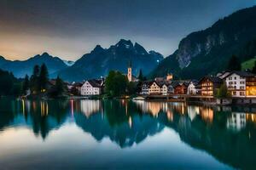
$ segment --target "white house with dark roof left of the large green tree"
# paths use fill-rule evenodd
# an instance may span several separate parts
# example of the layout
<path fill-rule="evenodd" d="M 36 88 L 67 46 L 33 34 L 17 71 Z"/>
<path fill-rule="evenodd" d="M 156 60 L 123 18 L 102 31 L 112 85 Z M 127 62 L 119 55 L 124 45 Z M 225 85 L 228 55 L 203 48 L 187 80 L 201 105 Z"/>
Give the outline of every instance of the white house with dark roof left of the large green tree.
<path fill-rule="evenodd" d="M 81 87 L 81 95 L 100 95 L 102 94 L 103 80 L 88 80 Z"/>

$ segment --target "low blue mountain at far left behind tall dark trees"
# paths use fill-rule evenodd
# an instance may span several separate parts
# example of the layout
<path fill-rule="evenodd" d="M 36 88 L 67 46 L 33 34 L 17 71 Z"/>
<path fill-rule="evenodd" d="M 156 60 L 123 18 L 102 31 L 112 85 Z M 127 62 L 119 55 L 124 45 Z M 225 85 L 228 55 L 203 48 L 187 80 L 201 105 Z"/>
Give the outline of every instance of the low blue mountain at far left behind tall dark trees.
<path fill-rule="evenodd" d="M 15 77 L 25 77 L 26 74 L 31 75 L 34 65 L 42 65 L 43 63 L 47 65 L 49 74 L 67 68 L 67 65 L 61 59 L 47 53 L 38 54 L 23 61 L 10 61 L 0 57 L 0 68 L 5 71 L 13 72 Z"/>

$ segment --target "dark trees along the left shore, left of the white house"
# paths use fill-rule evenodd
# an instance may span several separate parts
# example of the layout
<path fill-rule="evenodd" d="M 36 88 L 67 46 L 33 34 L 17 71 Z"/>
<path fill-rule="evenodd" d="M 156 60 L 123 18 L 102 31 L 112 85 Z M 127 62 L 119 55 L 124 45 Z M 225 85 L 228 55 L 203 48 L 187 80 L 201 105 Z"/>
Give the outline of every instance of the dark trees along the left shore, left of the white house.
<path fill-rule="evenodd" d="M 49 96 L 58 97 L 67 91 L 61 77 L 49 81 L 47 66 L 35 65 L 32 75 L 23 79 L 16 78 L 12 72 L 0 69 L 0 96 Z"/>

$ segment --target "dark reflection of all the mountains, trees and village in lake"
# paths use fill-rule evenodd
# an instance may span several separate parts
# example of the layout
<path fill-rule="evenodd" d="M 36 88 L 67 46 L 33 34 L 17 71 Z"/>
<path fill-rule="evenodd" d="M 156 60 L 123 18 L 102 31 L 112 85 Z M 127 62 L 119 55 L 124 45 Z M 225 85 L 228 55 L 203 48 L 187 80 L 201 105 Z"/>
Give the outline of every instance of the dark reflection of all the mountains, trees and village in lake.
<path fill-rule="evenodd" d="M 28 127 L 47 140 L 52 130 L 71 122 L 99 143 L 107 138 L 120 148 L 130 148 L 170 128 L 185 144 L 232 167 L 250 168 L 256 161 L 255 111 L 158 101 L 2 99 L 0 131 Z"/>

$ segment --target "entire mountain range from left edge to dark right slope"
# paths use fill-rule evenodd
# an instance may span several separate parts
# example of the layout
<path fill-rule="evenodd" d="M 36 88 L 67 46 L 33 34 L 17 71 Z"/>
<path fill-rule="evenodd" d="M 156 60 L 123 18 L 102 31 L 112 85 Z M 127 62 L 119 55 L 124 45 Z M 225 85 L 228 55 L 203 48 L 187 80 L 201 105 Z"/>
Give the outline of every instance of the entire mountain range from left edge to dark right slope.
<path fill-rule="evenodd" d="M 24 61 L 10 61 L 0 56 L 0 68 L 12 71 L 15 77 L 24 77 L 32 73 L 34 65 L 45 63 L 50 77 L 60 75 L 64 80 L 73 82 L 105 77 L 110 70 L 126 73 L 131 61 L 134 76 L 142 69 L 143 75 L 148 77 L 172 73 L 177 78 L 200 78 L 225 70 L 233 54 L 241 62 L 256 56 L 255 18 L 256 6 L 230 14 L 206 30 L 184 37 L 177 50 L 165 59 L 157 52 L 148 52 L 137 42 L 121 39 L 109 48 L 97 45 L 75 62 L 47 53 Z"/>

